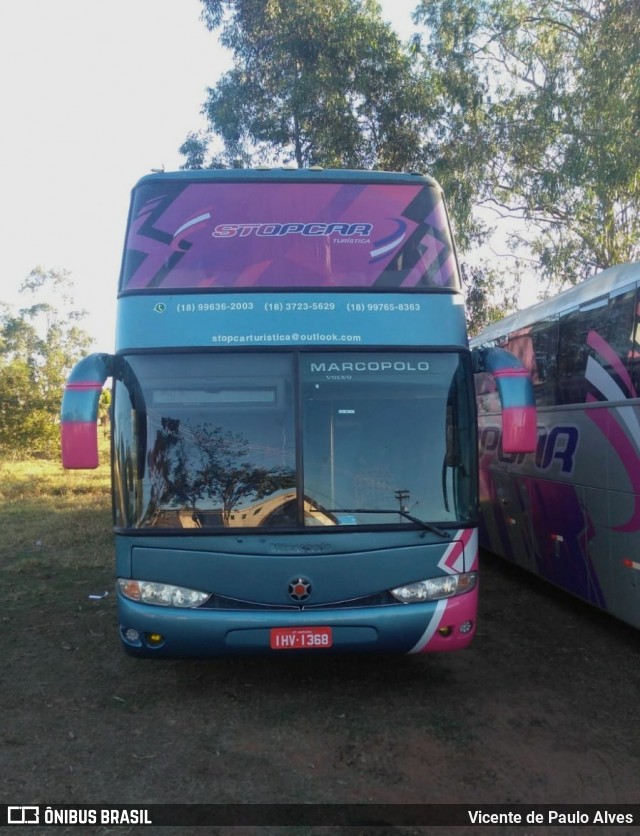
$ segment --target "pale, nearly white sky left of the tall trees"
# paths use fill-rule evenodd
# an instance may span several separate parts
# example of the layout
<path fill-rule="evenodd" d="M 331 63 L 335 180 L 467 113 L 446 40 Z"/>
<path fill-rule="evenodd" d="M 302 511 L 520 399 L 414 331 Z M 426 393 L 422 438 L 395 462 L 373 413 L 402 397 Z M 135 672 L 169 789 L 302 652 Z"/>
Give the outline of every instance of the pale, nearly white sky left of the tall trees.
<path fill-rule="evenodd" d="M 383 0 L 404 38 L 417 0 Z M 32 268 L 66 269 L 96 350 L 111 351 L 129 192 L 176 169 L 228 66 L 199 0 L 2 0 L 0 302 Z"/>

